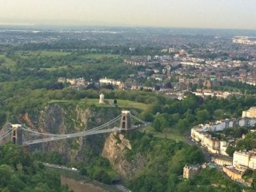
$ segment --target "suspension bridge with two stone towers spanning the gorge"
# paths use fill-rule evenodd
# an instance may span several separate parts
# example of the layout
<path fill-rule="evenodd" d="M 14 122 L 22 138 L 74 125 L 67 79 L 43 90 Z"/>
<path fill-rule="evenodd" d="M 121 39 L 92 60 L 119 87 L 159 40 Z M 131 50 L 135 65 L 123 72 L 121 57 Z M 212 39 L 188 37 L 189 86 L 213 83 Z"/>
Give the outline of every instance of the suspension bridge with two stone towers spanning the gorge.
<path fill-rule="evenodd" d="M 136 125 L 134 125 L 136 122 Z M 44 143 L 48 141 L 65 140 L 80 136 L 89 136 L 93 134 L 101 134 L 113 131 L 129 131 L 138 129 L 147 125 L 147 122 L 140 120 L 132 115 L 130 111 L 122 111 L 121 115 L 116 116 L 106 124 L 94 127 L 86 131 L 70 133 L 70 134 L 52 134 L 47 132 L 38 132 L 26 125 L 8 124 L 7 129 L 0 135 L 0 144 L 3 145 L 8 141 L 12 141 L 19 146 L 28 146 L 36 143 Z"/>

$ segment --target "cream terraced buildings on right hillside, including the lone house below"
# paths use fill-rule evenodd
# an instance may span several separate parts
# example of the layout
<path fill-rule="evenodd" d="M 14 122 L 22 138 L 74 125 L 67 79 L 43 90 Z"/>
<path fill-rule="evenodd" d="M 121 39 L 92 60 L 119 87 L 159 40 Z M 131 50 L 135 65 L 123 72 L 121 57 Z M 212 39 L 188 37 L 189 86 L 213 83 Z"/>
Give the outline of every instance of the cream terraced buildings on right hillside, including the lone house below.
<path fill-rule="evenodd" d="M 239 119 L 226 119 L 211 124 L 201 124 L 191 129 L 191 138 L 212 154 L 220 154 L 223 158 L 228 156 L 226 149 L 230 141 L 234 142 L 234 138 L 225 138 L 220 140 L 211 135 L 210 132 L 223 131 L 233 127 L 253 127 L 256 124 L 256 107 L 252 107 L 247 111 L 243 111 L 242 117 Z M 248 169 L 256 170 L 256 150 L 239 150 L 234 152 L 232 161 L 230 159 L 223 160 L 216 158 L 216 164 L 222 166 L 230 179 L 251 186 L 252 179 L 244 180 L 244 172 Z M 200 166 L 184 167 L 184 178 L 189 178 L 200 171 Z M 185 177 L 186 176 L 186 177 Z"/>

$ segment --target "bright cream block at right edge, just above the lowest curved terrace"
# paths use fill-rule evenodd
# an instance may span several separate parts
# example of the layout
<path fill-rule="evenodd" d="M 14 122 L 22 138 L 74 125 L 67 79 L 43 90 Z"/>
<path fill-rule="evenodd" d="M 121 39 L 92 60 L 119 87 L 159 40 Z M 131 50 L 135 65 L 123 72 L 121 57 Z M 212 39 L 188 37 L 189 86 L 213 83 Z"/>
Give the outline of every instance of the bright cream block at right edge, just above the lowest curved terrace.
<path fill-rule="evenodd" d="M 246 168 L 256 170 L 256 150 L 249 150 L 248 152 L 234 152 L 233 166 L 236 168 L 244 166 Z"/>

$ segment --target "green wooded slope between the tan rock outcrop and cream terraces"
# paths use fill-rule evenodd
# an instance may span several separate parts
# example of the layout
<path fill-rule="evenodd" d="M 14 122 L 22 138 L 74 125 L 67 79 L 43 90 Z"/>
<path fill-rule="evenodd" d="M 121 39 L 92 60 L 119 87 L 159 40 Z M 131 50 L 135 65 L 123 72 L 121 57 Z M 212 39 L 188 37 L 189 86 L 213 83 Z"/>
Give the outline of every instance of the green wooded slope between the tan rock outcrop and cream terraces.
<path fill-rule="evenodd" d="M 148 159 L 147 166 L 130 182 L 132 191 L 239 191 L 241 187 L 223 179 L 217 170 L 202 170 L 192 179 L 182 178 L 186 164 L 204 162 L 200 149 L 183 142 L 152 138 L 148 134 L 133 132 L 127 135 L 133 153 L 140 152 Z M 216 186 L 212 186 L 216 184 Z"/>

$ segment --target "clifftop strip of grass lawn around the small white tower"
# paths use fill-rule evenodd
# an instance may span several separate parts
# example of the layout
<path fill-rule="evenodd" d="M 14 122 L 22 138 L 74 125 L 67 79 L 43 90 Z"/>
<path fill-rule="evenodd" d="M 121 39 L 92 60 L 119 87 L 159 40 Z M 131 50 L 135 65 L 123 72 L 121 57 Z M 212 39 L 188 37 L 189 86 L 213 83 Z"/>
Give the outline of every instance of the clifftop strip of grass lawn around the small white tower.
<path fill-rule="evenodd" d="M 81 99 L 81 100 L 51 100 L 49 103 L 57 103 L 57 102 L 65 102 L 65 103 L 86 103 L 86 104 L 94 104 L 97 107 L 106 107 L 106 108 L 115 108 L 113 103 L 113 99 L 105 99 L 106 102 L 110 104 L 99 104 L 99 99 Z M 142 111 L 149 108 L 150 105 L 144 104 L 141 102 L 134 102 L 131 100 L 122 100 L 117 99 L 118 108 L 124 109 L 140 109 Z"/>

